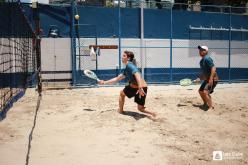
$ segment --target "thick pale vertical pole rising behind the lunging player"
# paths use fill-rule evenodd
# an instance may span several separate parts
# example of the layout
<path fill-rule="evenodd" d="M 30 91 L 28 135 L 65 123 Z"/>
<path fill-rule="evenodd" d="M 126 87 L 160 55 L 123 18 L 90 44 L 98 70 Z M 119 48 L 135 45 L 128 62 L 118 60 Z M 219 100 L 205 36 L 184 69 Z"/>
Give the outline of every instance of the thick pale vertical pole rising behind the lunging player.
<path fill-rule="evenodd" d="M 144 72 L 144 3 L 143 1 L 140 1 L 140 63 L 141 63 L 141 75 L 144 78 L 145 72 Z"/>

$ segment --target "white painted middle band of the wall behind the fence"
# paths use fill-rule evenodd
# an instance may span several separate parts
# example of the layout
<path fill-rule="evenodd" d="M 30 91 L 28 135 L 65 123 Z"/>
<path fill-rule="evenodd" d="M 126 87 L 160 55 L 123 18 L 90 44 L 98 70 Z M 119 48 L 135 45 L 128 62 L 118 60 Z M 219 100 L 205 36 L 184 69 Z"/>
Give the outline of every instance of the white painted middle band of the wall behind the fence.
<path fill-rule="evenodd" d="M 41 41 L 42 71 L 71 71 L 71 39 L 70 38 L 43 38 Z M 118 45 L 118 38 L 99 38 L 98 45 Z M 81 45 L 95 44 L 94 39 L 83 39 Z M 122 49 L 133 51 L 140 66 L 140 40 L 122 39 Z M 209 47 L 209 55 L 217 67 L 228 67 L 228 41 L 211 40 L 173 40 L 172 63 L 173 67 L 199 68 L 200 57 L 198 45 Z M 170 40 L 146 39 L 144 42 L 145 67 L 161 68 L 170 66 Z M 149 48 L 150 47 L 150 48 Z M 156 47 L 156 48 L 154 48 Z M 160 48 L 158 48 L 160 47 Z M 161 48 L 165 47 L 165 48 Z M 232 42 L 231 67 L 248 68 L 248 41 Z M 78 52 L 78 50 L 77 50 Z M 119 64 L 118 49 L 101 49 L 98 57 L 98 69 L 116 69 Z M 77 63 L 77 68 L 79 64 Z M 81 57 L 81 69 L 95 69 L 95 61 L 90 56 Z M 43 78 L 54 78 L 53 75 L 44 75 Z M 71 78 L 71 74 L 57 74 L 56 78 Z"/>

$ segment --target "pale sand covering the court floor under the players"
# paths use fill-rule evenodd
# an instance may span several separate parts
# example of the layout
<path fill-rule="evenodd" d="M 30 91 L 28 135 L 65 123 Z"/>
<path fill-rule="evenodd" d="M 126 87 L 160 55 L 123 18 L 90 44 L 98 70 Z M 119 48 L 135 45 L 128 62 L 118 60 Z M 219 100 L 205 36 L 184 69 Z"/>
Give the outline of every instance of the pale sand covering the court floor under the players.
<path fill-rule="evenodd" d="M 203 111 L 196 86 L 149 86 L 152 121 L 127 99 L 123 87 L 43 92 L 30 165 L 248 164 L 248 84 L 219 84 L 215 110 Z M 24 165 L 38 95 L 29 89 L 0 122 L 0 165 Z M 242 153 L 213 161 L 213 151 Z"/>

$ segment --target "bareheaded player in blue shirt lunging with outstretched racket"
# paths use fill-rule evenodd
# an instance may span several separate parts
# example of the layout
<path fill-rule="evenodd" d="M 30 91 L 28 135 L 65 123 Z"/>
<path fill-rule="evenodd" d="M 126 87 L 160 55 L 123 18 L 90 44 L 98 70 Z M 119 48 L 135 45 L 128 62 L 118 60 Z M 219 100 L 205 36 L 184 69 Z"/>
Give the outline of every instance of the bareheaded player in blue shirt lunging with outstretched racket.
<path fill-rule="evenodd" d="M 119 76 L 112 78 L 110 80 L 104 81 L 100 80 L 99 84 L 114 84 L 123 79 L 127 79 L 129 81 L 128 85 L 125 86 L 123 90 L 120 92 L 119 96 L 119 113 L 123 113 L 123 107 L 125 102 L 125 97 L 128 98 L 134 97 L 134 102 L 138 104 L 138 110 L 152 115 L 152 117 L 156 117 L 154 112 L 148 111 L 145 107 L 145 99 L 147 94 L 147 83 L 141 77 L 138 68 L 136 67 L 134 54 L 131 51 L 124 51 L 122 55 L 122 63 L 126 65 L 123 73 Z"/>

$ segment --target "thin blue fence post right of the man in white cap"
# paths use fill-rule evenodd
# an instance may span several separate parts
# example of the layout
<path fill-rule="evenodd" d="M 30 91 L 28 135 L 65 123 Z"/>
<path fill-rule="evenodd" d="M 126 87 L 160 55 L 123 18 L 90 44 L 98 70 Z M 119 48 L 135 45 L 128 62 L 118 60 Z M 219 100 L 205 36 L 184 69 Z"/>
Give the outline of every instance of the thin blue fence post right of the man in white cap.
<path fill-rule="evenodd" d="M 232 40 L 232 16 L 231 6 L 229 7 L 229 42 L 228 42 L 228 81 L 231 82 L 231 40 Z"/>

